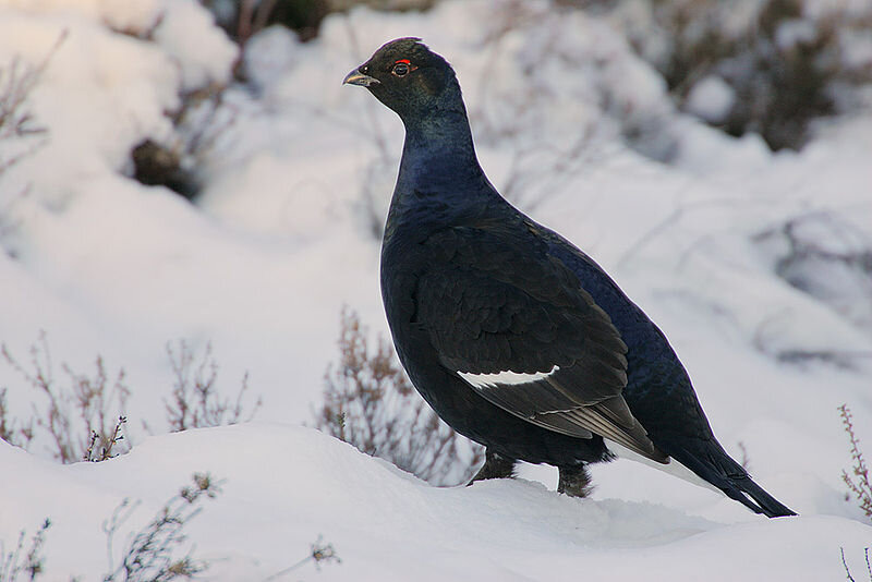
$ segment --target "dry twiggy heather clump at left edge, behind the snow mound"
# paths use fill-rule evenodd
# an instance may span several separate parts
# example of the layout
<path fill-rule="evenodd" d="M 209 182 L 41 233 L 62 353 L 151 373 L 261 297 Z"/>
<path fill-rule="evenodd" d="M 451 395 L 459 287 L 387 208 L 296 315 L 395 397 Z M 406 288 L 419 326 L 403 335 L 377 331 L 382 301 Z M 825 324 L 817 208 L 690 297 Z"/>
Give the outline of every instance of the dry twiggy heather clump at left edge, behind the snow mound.
<path fill-rule="evenodd" d="M 41 404 L 33 403 L 31 419 L 17 426 L 7 419 L 3 390 L 0 423 L 8 427 L 4 432 L 10 433 L 10 442 L 26 448 L 39 431 L 51 442 L 55 459 L 62 463 L 104 460 L 129 450 L 119 451 L 116 447 L 123 438 L 120 425 L 130 397 L 123 368 L 110 380 L 99 355 L 90 375 L 74 372 L 64 363 L 61 369 L 65 383 L 59 385 L 44 332 L 31 347 L 29 366 L 22 364 L 5 344 L 0 347 L 0 354 L 41 400 Z"/>

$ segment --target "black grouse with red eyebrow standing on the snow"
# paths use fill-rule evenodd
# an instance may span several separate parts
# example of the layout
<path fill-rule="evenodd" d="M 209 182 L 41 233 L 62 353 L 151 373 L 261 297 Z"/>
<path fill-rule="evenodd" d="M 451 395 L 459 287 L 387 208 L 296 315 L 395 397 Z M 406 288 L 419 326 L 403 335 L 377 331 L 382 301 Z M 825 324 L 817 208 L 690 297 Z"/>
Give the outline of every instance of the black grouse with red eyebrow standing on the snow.
<path fill-rule="evenodd" d="M 519 460 L 547 463 L 559 490 L 584 496 L 585 465 L 622 447 L 678 461 L 758 513 L 795 514 L 724 451 L 657 326 L 593 259 L 494 189 L 445 59 L 400 38 L 344 83 L 405 126 L 382 295 L 414 386 L 486 447 L 473 481 L 511 476 Z"/>

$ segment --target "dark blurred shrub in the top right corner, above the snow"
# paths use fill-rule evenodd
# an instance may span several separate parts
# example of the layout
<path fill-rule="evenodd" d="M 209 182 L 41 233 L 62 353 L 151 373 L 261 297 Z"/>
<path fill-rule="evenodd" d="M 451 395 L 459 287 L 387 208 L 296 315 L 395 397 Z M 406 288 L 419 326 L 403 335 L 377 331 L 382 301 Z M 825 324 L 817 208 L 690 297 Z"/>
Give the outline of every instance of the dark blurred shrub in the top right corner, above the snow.
<path fill-rule="evenodd" d="M 872 61 L 849 54 L 872 25 L 869 7 L 812 0 L 640 5 L 650 22 L 627 23 L 626 32 L 678 105 L 688 105 L 698 83 L 716 78 L 732 102 L 720 119 L 706 121 L 731 135 L 756 132 L 772 149 L 800 148 L 813 120 L 857 107 L 862 99 L 855 89 L 872 81 Z"/>

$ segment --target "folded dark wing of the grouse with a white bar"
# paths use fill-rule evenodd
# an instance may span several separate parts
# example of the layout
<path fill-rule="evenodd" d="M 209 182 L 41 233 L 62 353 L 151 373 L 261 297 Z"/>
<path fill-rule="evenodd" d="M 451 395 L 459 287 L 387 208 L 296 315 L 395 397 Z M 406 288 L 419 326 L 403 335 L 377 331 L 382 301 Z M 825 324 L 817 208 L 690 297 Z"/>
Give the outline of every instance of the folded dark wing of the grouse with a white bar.
<path fill-rule="evenodd" d="M 627 345 L 578 277 L 533 231 L 455 227 L 425 242 L 413 322 L 444 366 L 504 410 L 557 433 L 666 456 L 622 391 Z"/>

